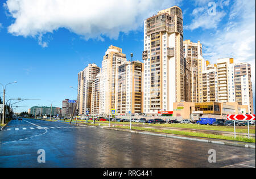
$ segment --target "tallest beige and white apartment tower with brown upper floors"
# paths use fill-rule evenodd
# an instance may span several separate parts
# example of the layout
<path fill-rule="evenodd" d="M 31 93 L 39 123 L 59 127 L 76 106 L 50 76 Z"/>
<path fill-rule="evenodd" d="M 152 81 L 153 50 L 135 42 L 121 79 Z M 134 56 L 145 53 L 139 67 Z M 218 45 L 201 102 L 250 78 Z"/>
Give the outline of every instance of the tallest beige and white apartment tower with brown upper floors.
<path fill-rule="evenodd" d="M 174 6 L 144 21 L 144 113 L 173 110 L 185 100 L 183 15 Z"/>

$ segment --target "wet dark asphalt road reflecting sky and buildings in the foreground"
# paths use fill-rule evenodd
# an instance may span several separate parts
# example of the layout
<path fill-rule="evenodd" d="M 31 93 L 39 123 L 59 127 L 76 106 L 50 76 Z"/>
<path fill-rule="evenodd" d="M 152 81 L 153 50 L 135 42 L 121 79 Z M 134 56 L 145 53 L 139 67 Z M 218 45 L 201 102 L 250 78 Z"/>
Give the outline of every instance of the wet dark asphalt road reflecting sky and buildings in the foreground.
<path fill-rule="evenodd" d="M 38 163 L 40 149 L 46 163 Z M 0 167 L 255 167 L 255 149 L 24 118 L 0 131 Z"/>

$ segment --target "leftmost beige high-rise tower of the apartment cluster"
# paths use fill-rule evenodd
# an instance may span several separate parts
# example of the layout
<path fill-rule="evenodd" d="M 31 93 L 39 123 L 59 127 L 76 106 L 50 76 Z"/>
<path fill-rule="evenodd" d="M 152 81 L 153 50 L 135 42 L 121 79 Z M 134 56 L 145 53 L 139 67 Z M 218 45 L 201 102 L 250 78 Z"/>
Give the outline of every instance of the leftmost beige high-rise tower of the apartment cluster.
<path fill-rule="evenodd" d="M 79 114 L 91 113 L 92 84 L 99 73 L 100 67 L 93 63 L 78 74 L 77 109 L 79 109 Z"/>

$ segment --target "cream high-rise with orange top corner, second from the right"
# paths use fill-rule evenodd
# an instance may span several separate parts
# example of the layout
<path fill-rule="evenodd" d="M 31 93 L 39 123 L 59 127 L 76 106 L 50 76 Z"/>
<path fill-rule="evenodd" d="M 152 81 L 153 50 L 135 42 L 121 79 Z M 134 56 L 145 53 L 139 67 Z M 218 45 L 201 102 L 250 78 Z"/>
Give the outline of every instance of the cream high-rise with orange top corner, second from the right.
<path fill-rule="evenodd" d="M 236 102 L 234 88 L 234 59 L 217 59 L 218 102 Z"/>

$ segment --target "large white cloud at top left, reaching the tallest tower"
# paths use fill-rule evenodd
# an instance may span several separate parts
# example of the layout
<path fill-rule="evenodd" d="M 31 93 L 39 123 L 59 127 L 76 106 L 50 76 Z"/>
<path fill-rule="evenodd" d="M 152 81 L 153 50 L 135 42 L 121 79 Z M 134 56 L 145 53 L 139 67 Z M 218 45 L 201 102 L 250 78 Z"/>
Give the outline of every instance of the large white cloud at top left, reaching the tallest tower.
<path fill-rule="evenodd" d="M 143 25 L 143 19 L 180 0 L 7 0 L 6 10 L 15 19 L 8 32 L 15 36 L 37 37 L 66 28 L 86 40 L 117 39 L 119 32 L 129 32 Z"/>

